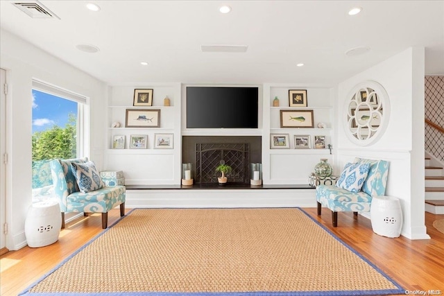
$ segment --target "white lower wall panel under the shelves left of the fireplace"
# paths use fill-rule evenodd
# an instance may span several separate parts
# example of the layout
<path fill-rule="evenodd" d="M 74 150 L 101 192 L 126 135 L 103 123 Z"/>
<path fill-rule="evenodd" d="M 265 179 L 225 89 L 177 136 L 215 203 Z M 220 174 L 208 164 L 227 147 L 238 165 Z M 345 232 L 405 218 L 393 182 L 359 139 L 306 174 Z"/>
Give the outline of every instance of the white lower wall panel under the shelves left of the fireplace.
<path fill-rule="evenodd" d="M 112 154 L 107 171 L 123 171 L 125 184 L 175 184 L 177 175 L 172 154 Z"/>

